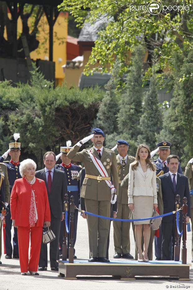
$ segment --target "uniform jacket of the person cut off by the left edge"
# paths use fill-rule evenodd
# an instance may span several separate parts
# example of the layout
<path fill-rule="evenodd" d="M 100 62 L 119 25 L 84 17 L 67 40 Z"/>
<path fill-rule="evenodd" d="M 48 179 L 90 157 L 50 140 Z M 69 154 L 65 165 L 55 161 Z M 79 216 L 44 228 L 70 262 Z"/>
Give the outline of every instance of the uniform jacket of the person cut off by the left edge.
<path fill-rule="evenodd" d="M 0 186 L 0 201 L 7 202 L 10 201 L 10 191 L 9 191 L 9 180 L 7 174 L 7 166 L 0 163 L 0 177 L 3 177 L 2 184 Z"/>

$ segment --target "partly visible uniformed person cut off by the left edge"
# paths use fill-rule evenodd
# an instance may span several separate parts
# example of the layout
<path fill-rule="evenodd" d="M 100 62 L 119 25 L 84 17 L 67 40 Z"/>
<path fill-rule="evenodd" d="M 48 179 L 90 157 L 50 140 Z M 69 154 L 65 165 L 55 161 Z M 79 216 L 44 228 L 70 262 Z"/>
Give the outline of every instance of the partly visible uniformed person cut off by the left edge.
<path fill-rule="evenodd" d="M 10 192 L 9 192 L 7 166 L 0 163 L 0 259 L 2 254 L 2 227 L 4 222 L 3 221 L 4 215 L 2 213 L 2 210 L 7 208 L 9 201 L 10 201 Z M 0 264 L 2 264 L 1 261 Z"/>

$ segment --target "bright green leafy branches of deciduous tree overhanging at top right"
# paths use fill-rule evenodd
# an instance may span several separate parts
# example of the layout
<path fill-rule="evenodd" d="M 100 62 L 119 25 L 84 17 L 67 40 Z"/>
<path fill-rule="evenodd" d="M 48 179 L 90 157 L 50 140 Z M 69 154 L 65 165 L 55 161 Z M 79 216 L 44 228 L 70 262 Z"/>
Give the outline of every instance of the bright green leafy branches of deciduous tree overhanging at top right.
<path fill-rule="evenodd" d="M 182 5 L 181 0 L 158 2 L 164 7 Z M 144 5 L 147 7 L 148 3 L 145 2 Z M 185 10 L 168 10 L 162 7 L 157 15 L 152 15 L 148 9 L 139 9 L 141 4 L 141 0 L 130 3 L 127 0 L 72 0 L 70 3 L 63 0 L 60 9 L 70 11 L 79 26 L 84 22 L 93 24 L 99 18 L 106 19 L 103 29 L 98 32 L 98 39 L 86 66 L 87 72 L 97 71 L 99 68 L 108 71 L 108 63 L 112 70 L 115 55 L 122 63 L 127 62 L 128 52 L 133 52 L 139 43 L 144 43 L 148 52 L 147 64 L 150 66 L 153 51 L 157 51 L 161 68 L 170 65 L 172 52 L 182 53 L 187 48 L 192 48 L 193 9 L 189 0 L 183 1 Z M 89 13 L 82 15 L 82 10 Z M 123 71 L 126 70 L 125 66 L 122 68 Z"/>

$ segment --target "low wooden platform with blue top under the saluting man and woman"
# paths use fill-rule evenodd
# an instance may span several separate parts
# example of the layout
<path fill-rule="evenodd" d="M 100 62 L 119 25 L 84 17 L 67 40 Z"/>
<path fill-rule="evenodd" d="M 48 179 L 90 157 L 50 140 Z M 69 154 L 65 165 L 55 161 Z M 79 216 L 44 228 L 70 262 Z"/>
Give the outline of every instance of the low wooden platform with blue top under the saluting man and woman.
<path fill-rule="evenodd" d="M 176 277 L 179 280 L 190 280 L 189 271 L 191 264 L 182 264 L 181 261 L 150 261 L 139 263 L 134 260 L 110 263 L 89 263 L 87 260 L 74 260 L 74 263 L 59 260 L 59 277 L 64 279 L 77 279 L 76 276 L 119 276 L 122 280 L 135 280 L 136 276 Z"/>

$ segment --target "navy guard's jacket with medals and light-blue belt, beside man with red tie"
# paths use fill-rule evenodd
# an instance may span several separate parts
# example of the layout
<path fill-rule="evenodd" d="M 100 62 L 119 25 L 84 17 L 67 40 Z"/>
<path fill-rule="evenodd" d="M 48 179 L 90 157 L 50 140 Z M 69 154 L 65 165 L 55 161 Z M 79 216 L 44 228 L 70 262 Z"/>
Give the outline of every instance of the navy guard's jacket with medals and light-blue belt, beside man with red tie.
<path fill-rule="evenodd" d="M 74 204 L 78 207 L 80 200 L 80 182 L 78 181 L 78 173 L 81 168 L 78 165 L 72 163 L 70 167 L 64 167 L 61 163 L 59 165 L 55 165 L 55 169 L 65 172 L 68 189 L 68 201 L 70 201 L 70 197 L 73 195 Z"/>

